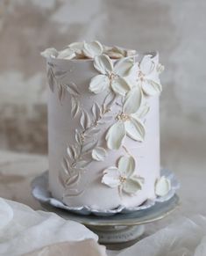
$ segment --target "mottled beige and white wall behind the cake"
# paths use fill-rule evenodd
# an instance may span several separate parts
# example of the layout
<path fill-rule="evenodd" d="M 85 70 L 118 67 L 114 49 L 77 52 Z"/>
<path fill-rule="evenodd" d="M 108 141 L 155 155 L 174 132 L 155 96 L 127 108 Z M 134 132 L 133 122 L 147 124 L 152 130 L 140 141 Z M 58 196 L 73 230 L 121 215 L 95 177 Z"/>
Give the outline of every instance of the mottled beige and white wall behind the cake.
<path fill-rule="evenodd" d="M 162 162 L 172 165 L 168 154 L 174 154 L 174 162 L 203 157 L 205 13 L 204 0 L 1 0 L 0 148 L 46 152 L 46 76 L 39 52 L 98 39 L 160 51 L 166 66 L 160 101 Z"/>

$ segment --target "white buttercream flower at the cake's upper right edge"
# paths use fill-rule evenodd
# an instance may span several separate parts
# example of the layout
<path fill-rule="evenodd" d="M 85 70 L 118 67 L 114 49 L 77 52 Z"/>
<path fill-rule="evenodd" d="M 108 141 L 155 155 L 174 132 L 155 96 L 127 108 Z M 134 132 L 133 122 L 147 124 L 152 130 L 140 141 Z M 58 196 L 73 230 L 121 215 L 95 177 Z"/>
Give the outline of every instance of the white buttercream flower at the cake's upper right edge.
<path fill-rule="evenodd" d="M 162 91 L 159 74 L 163 66 L 158 64 L 152 55 L 146 55 L 141 62 L 136 62 L 132 68 L 132 73 L 136 73 L 135 84 L 138 84 L 142 91 L 148 96 L 154 96 Z"/>

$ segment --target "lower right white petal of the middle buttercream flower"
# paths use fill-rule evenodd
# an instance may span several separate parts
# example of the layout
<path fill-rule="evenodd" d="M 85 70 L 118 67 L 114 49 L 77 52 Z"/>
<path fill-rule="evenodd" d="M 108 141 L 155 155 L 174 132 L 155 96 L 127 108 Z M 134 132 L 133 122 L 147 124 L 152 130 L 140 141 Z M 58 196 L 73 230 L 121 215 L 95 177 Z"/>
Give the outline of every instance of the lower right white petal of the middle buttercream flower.
<path fill-rule="evenodd" d="M 124 122 L 124 125 L 126 134 L 131 137 L 131 139 L 139 142 L 144 141 L 146 130 L 142 121 L 132 116 L 130 121 Z"/>

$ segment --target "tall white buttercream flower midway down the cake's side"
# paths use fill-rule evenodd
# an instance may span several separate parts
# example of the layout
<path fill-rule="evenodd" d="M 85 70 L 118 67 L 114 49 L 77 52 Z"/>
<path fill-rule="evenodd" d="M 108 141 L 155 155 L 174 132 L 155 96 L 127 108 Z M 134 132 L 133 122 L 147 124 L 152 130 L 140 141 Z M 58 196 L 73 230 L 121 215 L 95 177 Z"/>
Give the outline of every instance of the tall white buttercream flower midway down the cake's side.
<path fill-rule="evenodd" d="M 107 134 L 106 141 L 110 150 L 118 150 L 125 135 L 135 141 L 142 142 L 145 138 L 145 127 L 140 120 L 148 112 L 148 106 L 141 106 L 142 92 L 138 86 L 129 91 L 125 97 L 123 112 L 117 114 L 117 122 L 113 124 Z"/>

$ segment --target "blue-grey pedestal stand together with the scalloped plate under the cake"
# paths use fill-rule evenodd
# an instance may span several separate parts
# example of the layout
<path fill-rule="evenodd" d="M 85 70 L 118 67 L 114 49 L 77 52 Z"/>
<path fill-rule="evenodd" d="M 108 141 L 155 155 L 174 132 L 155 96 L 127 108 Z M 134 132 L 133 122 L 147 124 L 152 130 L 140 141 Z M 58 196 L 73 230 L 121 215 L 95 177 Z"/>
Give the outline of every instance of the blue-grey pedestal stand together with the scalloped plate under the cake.
<path fill-rule="evenodd" d="M 167 195 L 147 200 L 139 207 L 115 208 L 112 210 L 93 210 L 88 207 L 72 208 L 56 200 L 48 190 L 48 172 L 32 180 L 32 195 L 47 211 L 82 223 L 99 237 L 99 243 L 109 249 L 121 249 L 133 245 L 143 235 L 146 223 L 158 221 L 174 211 L 179 205 L 175 194 L 180 187 L 174 172 L 161 170 L 161 176 L 170 179 L 171 189 Z"/>

